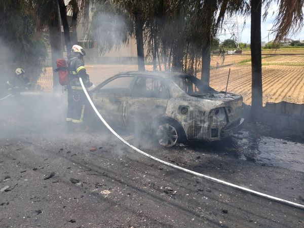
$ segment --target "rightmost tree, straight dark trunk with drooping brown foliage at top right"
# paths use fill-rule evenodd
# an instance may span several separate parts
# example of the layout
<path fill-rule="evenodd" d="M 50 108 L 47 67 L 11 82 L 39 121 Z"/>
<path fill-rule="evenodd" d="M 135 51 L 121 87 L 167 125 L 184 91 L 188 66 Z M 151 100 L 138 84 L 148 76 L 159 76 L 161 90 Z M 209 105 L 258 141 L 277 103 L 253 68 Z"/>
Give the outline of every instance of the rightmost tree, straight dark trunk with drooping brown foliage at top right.
<path fill-rule="evenodd" d="M 272 0 L 264 1 L 266 8 Z M 290 33 L 296 33 L 303 24 L 303 0 L 278 0 L 279 11 L 277 13 L 273 33 L 275 41 L 280 42 Z M 261 68 L 261 0 L 251 0 L 251 111 L 250 119 L 255 121 L 261 116 L 262 100 L 262 68 Z M 267 16 L 267 11 L 264 16 Z"/>

